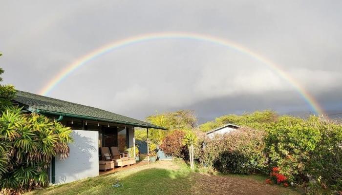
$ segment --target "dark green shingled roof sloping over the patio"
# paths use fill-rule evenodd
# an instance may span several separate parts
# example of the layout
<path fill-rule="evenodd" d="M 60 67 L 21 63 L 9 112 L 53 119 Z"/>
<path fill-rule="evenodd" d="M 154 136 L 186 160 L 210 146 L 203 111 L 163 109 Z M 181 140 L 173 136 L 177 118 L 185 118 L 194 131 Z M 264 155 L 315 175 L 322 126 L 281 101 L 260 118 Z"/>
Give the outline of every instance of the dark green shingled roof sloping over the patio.
<path fill-rule="evenodd" d="M 60 99 L 49 98 L 19 90 L 17 90 L 16 95 L 17 97 L 14 98 L 14 100 L 30 112 L 127 124 L 135 127 L 166 129 L 138 119 Z"/>

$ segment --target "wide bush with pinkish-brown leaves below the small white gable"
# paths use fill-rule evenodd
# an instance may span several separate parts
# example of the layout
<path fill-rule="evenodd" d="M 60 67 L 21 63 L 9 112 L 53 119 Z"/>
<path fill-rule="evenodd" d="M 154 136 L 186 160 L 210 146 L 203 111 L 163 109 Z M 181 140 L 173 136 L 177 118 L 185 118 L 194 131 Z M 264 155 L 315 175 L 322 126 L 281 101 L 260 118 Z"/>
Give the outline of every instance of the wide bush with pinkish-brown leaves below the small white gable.
<path fill-rule="evenodd" d="M 218 171 L 235 174 L 264 172 L 267 167 L 264 155 L 264 133 L 249 128 L 216 135 L 204 141 L 200 159 Z"/>

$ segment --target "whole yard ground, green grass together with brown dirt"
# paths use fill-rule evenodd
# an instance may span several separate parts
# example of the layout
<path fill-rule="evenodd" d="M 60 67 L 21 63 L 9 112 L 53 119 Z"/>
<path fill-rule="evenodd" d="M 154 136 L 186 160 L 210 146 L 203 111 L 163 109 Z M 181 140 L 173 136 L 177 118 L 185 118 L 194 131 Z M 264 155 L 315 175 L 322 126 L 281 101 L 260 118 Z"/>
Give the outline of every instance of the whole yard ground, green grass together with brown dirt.
<path fill-rule="evenodd" d="M 158 161 L 113 174 L 34 190 L 29 195 L 299 195 L 290 188 L 267 185 L 263 176 L 192 172 L 182 162 Z M 119 180 L 123 185 L 114 188 Z"/>

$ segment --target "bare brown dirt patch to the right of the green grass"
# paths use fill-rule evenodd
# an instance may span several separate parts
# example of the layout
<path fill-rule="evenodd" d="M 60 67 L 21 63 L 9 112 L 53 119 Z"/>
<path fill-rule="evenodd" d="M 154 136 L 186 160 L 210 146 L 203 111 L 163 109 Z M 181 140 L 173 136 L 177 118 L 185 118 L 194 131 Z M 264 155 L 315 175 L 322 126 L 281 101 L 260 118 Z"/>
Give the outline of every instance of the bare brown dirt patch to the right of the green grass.
<path fill-rule="evenodd" d="M 292 190 L 237 176 L 193 174 L 193 195 L 296 195 Z"/>

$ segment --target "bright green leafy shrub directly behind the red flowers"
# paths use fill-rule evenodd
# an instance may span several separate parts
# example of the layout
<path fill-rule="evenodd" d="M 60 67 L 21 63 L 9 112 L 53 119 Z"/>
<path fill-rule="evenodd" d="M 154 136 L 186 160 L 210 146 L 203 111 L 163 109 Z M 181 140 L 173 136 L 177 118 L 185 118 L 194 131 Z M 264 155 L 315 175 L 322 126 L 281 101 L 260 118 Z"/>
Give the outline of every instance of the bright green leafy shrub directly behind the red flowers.
<path fill-rule="evenodd" d="M 290 181 L 303 179 L 305 164 L 321 140 L 320 130 L 303 119 L 285 116 L 270 124 L 266 132 L 270 165 L 280 167 Z"/>

